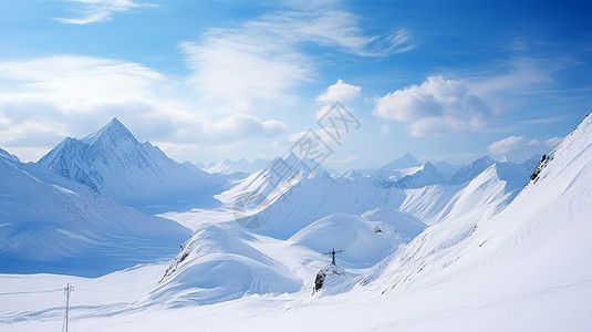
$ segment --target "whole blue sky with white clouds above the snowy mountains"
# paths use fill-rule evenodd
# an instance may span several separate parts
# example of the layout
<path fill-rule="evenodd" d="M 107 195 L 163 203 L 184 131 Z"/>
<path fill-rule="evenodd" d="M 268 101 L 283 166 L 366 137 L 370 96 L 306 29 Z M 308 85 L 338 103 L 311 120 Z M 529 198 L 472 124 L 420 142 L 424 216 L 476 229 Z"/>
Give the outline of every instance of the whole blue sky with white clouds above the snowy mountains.
<path fill-rule="evenodd" d="M 336 169 L 552 149 L 592 111 L 586 1 L 2 1 L 0 147 L 37 160 L 118 117 L 177 160 Z M 359 128 L 329 142 L 340 101 Z"/>

